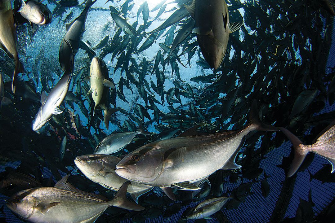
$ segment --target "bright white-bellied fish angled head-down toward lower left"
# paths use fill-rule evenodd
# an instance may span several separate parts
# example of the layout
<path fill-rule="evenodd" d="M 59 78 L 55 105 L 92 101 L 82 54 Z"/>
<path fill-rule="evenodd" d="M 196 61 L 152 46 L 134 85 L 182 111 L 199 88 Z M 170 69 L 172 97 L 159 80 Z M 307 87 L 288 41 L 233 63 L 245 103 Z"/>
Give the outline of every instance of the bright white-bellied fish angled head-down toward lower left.
<path fill-rule="evenodd" d="M 32 130 L 37 131 L 51 119 L 52 115 L 58 115 L 62 113 L 62 111 L 59 109 L 59 106 L 63 103 L 69 90 L 71 77 L 71 74 L 64 73 L 62 78 L 50 91 L 48 96 L 45 91 L 42 91 L 42 105 L 37 112 L 34 121 L 32 122 Z"/>

